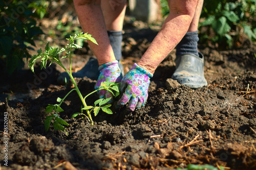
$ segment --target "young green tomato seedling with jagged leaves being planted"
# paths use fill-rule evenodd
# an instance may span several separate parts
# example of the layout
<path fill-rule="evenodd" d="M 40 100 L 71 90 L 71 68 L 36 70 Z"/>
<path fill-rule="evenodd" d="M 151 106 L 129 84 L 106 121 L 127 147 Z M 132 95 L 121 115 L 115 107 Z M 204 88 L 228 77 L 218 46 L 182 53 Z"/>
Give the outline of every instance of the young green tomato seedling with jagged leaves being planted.
<path fill-rule="evenodd" d="M 71 56 L 73 53 L 73 50 L 76 48 L 81 48 L 81 46 L 79 46 L 78 44 L 75 43 L 76 40 L 78 39 L 85 39 L 85 40 L 90 40 L 92 42 L 94 42 L 95 44 L 98 44 L 96 42 L 96 40 L 90 35 L 90 34 L 83 34 L 83 33 L 79 33 L 79 34 L 75 34 L 75 36 L 70 36 L 70 38 L 67 38 L 67 40 L 69 40 L 69 43 L 67 44 L 67 46 L 65 46 L 65 48 L 53 48 L 51 46 L 49 46 L 49 42 L 47 43 L 46 47 L 45 47 L 45 52 L 42 52 L 42 49 L 40 48 L 40 50 L 37 51 L 37 55 L 34 55 L 30 60 L 29 60 L 29 67 L 31 68 L 31 70 L 34 72 L 34 64 L 38 59 L 41 59 L 41 65 L 40 68 L 46 68 L 47 66 L 47 61 L 50 61 L 49 66 L 55 62 L 58 65 L 60 65 L 63 69 L 65 69 L 65 71 L 69 74 L 71 81 L 73 82 L 75 88 L 73 88 L 70 92 L 68 92 L 68 94 L 63 98 L 57 98 L 57 102 L 58 104 L 55 105 L 51 105 L 49 104 L 46 107 L 46 113 L 51 113 L 51 115 L 47 116 L 46 120 L 45 120 L 45 130 L 48 131 L 50 124 L 53 120 L 53 127 L 55 130 L 65 130 L 65 128 L 63 127 L 63 125 L 69 125 L 65 120 L 63 120 L 62 118 L 59 117 L 59 112 L 64 111 L 60 105 L 63 103 L 63 101 L 67 98 L 67 96 L 72 92 L 72 91 L 76 91 L 81 102 L 82 102 L 82 106 L 81 106 L 81 112 L 79 113 L 74 113 L 72 117 L 76 117 L 77 115 L 81 114 L 84 115 L 85 117 L 87 117 L 91 123 L 91 125 L 93 125 L 93 119 L 91 116 L 91 112 L 94 112 L 94 115 L 96 116 L 100 110 L 102 110 L 105 113 L 108 114 L 113 114 L 113 112 L 111 111 L 111 109 L 109 109 L 109 107 L 111 107 L 111 105 L 105 105 L 106 103 L 108 103 L 110 101 L 111 98 L 108 99 L 99 99 L 97 101 L 94 102 L 95 106 L 88 106 L 86 103 L 86 98 L 95 93 L 98 90 L 108 90 L 110 91 L 115 97 L 117 95 L 119 95 L 119 83 L 115 83 L 115 82 L 102 82 L 101 86 L 99 89 L 89 93 L 88 95 L 86 95 L 84 98 L 80 92 L 80 90 L 77 87 L 77 84 L 72 76 L 72 68 L 71 68 Z M 59 57 L 60 54 L 65 53 L 66 55 L 63 57 Z M 69 65 L 70 65 L 70 70 L 68 70 L 62 63 L 61 63 L 61 59 L 63 58 L 69 58 Z M 86 114 L 83 113 L 83 111 L 86 112 Z M 54 113 L 53 113 L 54 112 Z"/>

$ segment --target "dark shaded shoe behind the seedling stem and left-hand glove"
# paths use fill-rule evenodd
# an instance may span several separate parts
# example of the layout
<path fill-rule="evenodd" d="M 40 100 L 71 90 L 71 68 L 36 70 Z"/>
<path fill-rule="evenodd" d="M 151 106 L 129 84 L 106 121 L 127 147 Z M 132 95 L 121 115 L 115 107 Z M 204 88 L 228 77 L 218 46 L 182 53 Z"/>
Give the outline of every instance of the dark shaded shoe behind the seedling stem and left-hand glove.
<path fill-rule="evenodd" d="M 118 62 L 118 66 L 123 74 L 123 66 L 120 61 Z M 95 57 L 91 57 L 89 59 L 89 61 L 87 62 L 87 64 L 84 65 L 82 67 L 82 69 L 80 69 L 79 71 L 72 73 L 72 76 L 74 78 L 88 77 L 89 79 L 97 80 L 99 77 L 98 68 L 99 68 L 99 64 L 98 64 L 97 59 Z M 65 81 L 65 79 L 66 79 L 66 81 Z M 69 77 L 68 73 L 62 72 L 59 75 L 57 82 L 59 84 L 65 85 L 69 81 L 69 79 L 70 79 L 70 77 Z"/>

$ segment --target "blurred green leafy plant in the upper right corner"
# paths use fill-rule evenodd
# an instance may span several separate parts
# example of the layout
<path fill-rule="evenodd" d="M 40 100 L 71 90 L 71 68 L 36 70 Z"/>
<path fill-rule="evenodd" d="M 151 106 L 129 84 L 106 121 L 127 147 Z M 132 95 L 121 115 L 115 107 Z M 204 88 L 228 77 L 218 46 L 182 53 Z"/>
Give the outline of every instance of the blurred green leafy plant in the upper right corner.
<path fill-rule="evenodd" d="M 219 48 L 242 47 L 256 40 L 256 0 L 204 2 L 199 30 L 201 41 Z"/>

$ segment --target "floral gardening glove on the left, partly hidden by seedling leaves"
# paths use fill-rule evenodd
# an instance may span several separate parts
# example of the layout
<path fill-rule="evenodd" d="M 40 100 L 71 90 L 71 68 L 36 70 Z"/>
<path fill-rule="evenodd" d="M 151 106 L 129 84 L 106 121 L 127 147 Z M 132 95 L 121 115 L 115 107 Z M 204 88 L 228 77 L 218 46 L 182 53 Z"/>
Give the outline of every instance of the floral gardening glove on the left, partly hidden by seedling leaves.
<path fill-rule="evenodd" d="M 95 90 L 100 88 L 100 84 L 102 82 L 111 81 L 111 82 L 120 83 L 122 80 L 122 74 L 119 69 L 117 60 L 111 61 L 111 62 L 108 62 L 108 63 L 105 63 L 105 64 L 99 66 L 99 72 L 100 72 L 99 78 L 94 87 Z M 103 89 L 103 90 L 99 90 L 98 94 L 99 94 L 100 99 L 112 98 L 108 102 L 108 104 L 113 102 L 114 96 L 110 91 Z"/>

